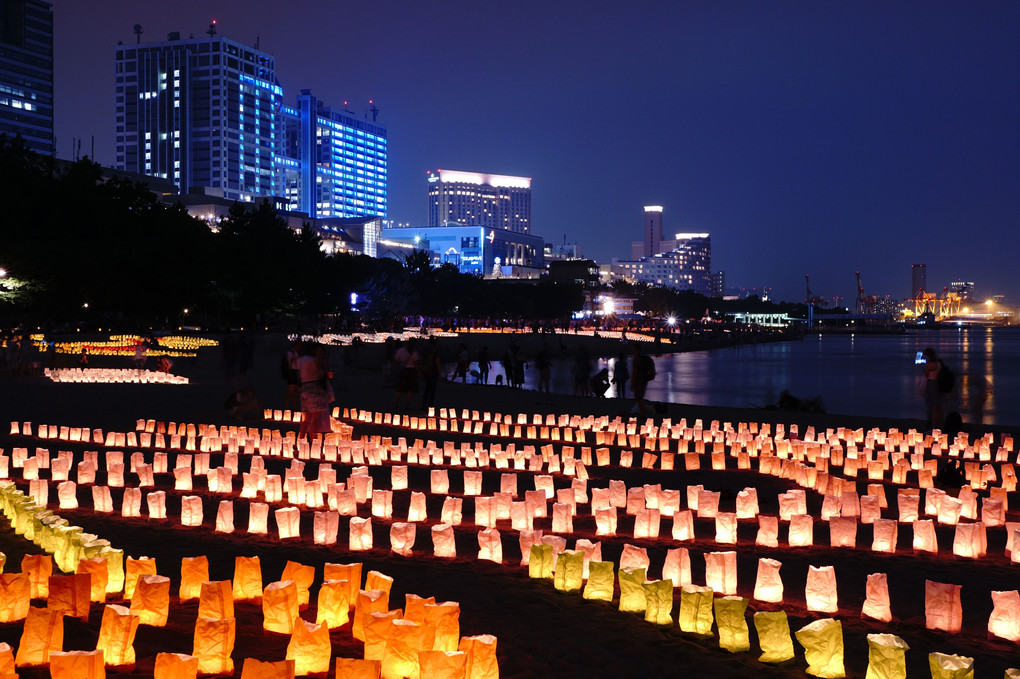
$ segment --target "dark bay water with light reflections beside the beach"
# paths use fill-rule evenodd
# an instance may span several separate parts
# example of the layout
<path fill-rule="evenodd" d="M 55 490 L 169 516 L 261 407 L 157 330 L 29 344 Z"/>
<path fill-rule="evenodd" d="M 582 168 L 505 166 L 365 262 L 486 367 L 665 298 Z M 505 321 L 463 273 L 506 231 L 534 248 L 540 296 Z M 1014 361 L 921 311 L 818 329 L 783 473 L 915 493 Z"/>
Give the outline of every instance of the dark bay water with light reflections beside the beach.
<path fill-rule="evenodd" d="M 970 421 L 972 386 L 987 380 L 984 423 L 1020 424 L 1020 328 L 918 330 L 903 334 L 808 335 L 797 342 L 751 345 L 656 357 L 653 401 L 703 406 L 763 407 L 783 389 L 801 399 L 821 398 L 826 412 L 874 417 L 924 417 L 917 394 L 920 367 L 914 356 L 934 348 L 957 374 L 955 403 Z M 527 357 L 530 358 L 530 357 Z M 593 361 L 594 370 L 615 358 Z M 552 389 L 573 393 L 573 363 L 553 362 Z M 491 380 L 502 372 L 493 365 Z M 524 387 L 533 389 L 537 374 L 525 370 Z M 614 397 L 615 386 L 607 396 Z M 629 384 L 627 396 L 630 397 Z"/>

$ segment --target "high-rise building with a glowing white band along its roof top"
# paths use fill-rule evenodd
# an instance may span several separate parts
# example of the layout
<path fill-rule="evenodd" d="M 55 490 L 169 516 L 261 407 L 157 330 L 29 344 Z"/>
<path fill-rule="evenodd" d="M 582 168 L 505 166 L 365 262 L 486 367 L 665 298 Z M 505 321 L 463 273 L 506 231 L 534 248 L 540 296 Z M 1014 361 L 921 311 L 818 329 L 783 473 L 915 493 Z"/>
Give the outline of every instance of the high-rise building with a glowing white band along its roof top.
<path fill-rule="evenodd" d="M 531 232 L 531 179 L 457 170 L 428 172 L 428 226 Z"/>

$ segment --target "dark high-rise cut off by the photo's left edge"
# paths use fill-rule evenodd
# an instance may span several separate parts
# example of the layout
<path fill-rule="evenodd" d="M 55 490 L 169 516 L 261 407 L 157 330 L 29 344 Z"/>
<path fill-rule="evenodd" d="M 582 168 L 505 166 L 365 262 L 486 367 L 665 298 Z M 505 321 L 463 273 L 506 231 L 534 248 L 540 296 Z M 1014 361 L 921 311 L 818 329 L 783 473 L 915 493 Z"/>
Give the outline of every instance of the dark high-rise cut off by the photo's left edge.
<path fill-rule="evenodd" d="M 54 155 L 53 6 L 0 0 L 0 135 Z"/>

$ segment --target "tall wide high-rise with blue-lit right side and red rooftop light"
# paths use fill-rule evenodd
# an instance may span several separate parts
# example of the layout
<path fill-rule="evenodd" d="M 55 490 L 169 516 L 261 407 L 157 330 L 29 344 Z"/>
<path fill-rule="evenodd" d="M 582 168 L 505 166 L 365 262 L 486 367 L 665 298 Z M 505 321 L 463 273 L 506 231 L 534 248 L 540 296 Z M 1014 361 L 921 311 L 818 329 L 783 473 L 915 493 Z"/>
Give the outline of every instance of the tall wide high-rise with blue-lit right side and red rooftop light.
<path fill-rule="evenodd" d="M 117 46 L 115 166 L 170 179 L 182 193 L 276 195 L 274 59 L 215 35 L 215 25 L 209 33 Z"/>

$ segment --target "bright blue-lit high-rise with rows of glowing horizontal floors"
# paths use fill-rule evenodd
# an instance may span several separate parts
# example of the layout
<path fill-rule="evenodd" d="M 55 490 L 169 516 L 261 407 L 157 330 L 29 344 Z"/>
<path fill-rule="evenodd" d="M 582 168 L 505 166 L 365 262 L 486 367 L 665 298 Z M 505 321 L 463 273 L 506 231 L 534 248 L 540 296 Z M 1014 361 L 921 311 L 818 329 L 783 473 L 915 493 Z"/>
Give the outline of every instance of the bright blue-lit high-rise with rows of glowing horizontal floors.
<path fill-rule="evenodd" d="M 289 209 L 312 217 L 386 216 L 386 126 L 326 106 L 309 90 L 279 113 L 277 175 Z"/>

